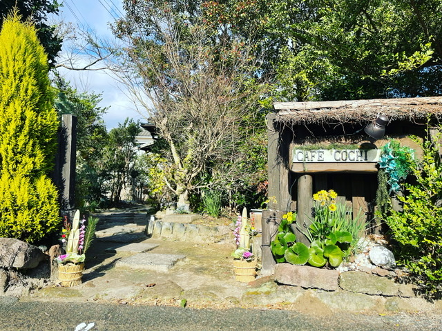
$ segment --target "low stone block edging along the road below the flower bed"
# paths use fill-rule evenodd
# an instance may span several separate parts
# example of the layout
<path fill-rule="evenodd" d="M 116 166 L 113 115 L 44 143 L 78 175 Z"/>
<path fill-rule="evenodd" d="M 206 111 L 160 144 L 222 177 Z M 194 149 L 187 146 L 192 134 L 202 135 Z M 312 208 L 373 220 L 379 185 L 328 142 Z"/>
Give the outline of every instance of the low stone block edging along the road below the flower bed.
<path fill-rule="evenodd" d="M 309 297 L 330 310 L 378 313 L 436 312 L 442 308 L 441 301 L 430 302 L 419 297 L 412 284 L 360 271 L 338 272 L 279 263 L 274 279 L 278 284 L 278 302 L 296 303 Z M 253 294 L 249 299 L 259 301 L 256 295 L 259 292 Z"/>

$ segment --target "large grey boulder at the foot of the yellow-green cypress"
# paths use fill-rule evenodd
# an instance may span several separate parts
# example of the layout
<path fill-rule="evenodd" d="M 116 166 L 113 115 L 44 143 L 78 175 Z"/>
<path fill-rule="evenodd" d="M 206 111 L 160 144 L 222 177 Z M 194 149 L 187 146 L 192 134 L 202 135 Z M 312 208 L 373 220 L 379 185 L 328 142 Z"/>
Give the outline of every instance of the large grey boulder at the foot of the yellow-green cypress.
<path fill-rule="evenodd" d="M 32 269 L 48 256 L 41 250 L 19 239 L 0 238 L 0 267 Z"/>

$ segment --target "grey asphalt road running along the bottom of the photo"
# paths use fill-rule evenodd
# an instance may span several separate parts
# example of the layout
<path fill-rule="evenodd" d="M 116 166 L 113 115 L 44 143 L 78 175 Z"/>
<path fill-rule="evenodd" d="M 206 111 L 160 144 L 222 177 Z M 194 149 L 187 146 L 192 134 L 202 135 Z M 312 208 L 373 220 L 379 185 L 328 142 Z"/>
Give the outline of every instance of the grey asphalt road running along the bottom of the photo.
<path fill-rule="evenodd" d="M 442 315 L 336 314 L 287 310 L 195 310 L 101 303 L 21 302 L 2 299 L 1 331 L 114 330 L 442 330 Z M 81 325 L 81 323 L 83 323 Z"/>

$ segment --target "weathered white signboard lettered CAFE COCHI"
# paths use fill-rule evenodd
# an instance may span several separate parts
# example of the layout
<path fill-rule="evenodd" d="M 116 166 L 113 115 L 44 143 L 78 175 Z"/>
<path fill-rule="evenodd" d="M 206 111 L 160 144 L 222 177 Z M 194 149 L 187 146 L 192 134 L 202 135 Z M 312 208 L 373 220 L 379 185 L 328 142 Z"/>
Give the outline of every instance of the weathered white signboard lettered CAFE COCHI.
<path fill-rule="evenodd" d="M 294 163 L 378 162 L 382 150 L 294 150 Z"/>

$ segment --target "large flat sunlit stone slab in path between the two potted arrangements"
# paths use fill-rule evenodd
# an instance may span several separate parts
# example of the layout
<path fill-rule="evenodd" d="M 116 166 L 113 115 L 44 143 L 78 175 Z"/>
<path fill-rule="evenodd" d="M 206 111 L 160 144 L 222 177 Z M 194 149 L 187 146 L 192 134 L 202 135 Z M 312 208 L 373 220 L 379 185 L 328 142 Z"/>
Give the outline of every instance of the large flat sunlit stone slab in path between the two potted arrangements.
<path fill-rule="evenodd" d="M 185 258 L 186 255 L 182 254 L 138 253 L 117 261 L 115 268 L 167 272 L 177 261 Z"/>

